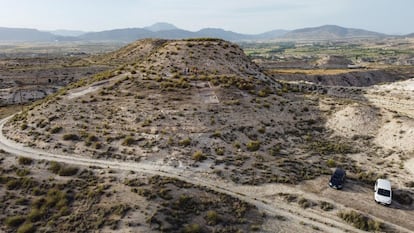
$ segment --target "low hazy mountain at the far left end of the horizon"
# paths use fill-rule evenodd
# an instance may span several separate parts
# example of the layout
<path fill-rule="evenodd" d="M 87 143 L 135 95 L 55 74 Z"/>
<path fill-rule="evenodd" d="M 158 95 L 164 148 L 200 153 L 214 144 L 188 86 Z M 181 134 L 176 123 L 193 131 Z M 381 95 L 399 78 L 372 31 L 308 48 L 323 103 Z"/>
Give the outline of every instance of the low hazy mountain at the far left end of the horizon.
<path fill-rule="evenodd" d="M 54 41 L 56 36 L 50 32 L 41 32 L 28 28 L 0 27 L 0 41 Z"/>

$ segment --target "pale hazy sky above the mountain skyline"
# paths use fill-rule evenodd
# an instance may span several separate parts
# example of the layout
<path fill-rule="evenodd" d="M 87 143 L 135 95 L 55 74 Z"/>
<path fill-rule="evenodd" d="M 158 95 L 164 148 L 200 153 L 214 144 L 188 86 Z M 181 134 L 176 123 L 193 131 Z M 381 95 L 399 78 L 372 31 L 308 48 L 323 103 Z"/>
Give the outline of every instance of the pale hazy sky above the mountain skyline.
<path fill-rule="evenodd" d="M 414 0 L 0 0 L 0 27 L 102 31 L 157 22 L 257 34 L 326 24 L 414 32 Z"/>

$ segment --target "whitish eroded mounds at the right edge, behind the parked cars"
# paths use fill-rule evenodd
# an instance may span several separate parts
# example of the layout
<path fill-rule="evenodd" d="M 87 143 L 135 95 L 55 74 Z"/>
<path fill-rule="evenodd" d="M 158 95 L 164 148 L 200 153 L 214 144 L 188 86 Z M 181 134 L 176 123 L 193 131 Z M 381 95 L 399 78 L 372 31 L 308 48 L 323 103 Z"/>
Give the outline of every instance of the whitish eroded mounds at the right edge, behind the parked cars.
<path fill-rule="evenodd" d="M 355 159 L 374 163 L 374 167 L 384 162 L 400 164 L 397 172 L 389 170 L 399 177 L 396 182 L 411 181 L 414 176 L 406 172 L 413 170 L 414 159 L 414 79 L 367 88 L 364 98 L 366 101 L 345 103 L 333 110 L 323 109 L 331 111 L 327 126 L 345 137 L 372 137 L 373 146 L 386 155 L 371 161 L 366 156 Z"/>

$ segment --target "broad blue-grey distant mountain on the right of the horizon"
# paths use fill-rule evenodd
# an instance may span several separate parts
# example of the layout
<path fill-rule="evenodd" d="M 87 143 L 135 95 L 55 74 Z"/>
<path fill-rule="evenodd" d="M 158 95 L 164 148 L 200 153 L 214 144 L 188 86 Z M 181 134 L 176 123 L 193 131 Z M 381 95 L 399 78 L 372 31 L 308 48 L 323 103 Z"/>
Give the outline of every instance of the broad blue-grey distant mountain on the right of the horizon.
<path fill-rule="evenodd" d="M 363 29 L 344 28 L 336 25 L 303 28 L 290 31 L 283 37 L 289 39 L 342 39 L 342 38 L 379 38 L 385 34 Z"/>

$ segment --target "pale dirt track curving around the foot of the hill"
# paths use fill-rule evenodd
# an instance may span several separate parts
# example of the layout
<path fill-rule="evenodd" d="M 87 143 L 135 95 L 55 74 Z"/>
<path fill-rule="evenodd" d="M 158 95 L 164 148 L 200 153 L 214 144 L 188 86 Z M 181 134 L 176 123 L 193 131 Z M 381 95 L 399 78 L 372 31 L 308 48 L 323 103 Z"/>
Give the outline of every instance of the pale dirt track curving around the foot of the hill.
<path fill-rule="evenodd" d="M 290 232 L 291 229 L 294 229 L 289 227 L 291 224 L 302 228 L 302 230 L 306 232 L 316 231 L 316 229 L 318 229 L 318 232 L 362 232 L 342 222 L 334 214 L 315 211 L 313 209 L 304 211 L 304 209 L 300 208 L 299 206 L 288 204 L 281 199 L 274 198 L 274 195 L 263 195 L 266 194 L 266 190 L 269 190 L 266 189 L 266 187 L 236 186 L 231 183 L 210 179 L 208 178 L 208 175 L 203 173 L 195 174 L 194 171 L 191 171 L 191 169 L 188 168 L 180 169 L 170 166 L 142 162 L 131 163 L 90 159 L 72 154 L 54 154 L 26 147 L 22 144 L 7 139 L 3 135 L 2 129 L 8 119 L 10 119 L 10 117 L 0 121 L 0 149 L 3 149 L 4 151 L 14 155 L 30 157 L 33 159 L 53 160 L 78 166 L 98 166 L 102 168 L 143 172 L 151 175 L 173 177 L 188 183 L 204 186 L 216 192 L 228 194 L 240 200 L 251 203 L 257 206 L 259 210 L 266 212 L 270 216 L 283 216 L 289 221 L 289 224 L 285 224 L 287 225 L 285 226 L 286 229 L 281 229 L 281 226 L 277 224 L 268 223 L 265 228 L 270 232 Z M 273 189 L 271 191 L 272 194 L 289 190 L 289 186 L 287 185 L 275 185 L 274 187 L 277 186 L 277 189 Z M 384 219 L 381 220 L 387 222 Z M 389 222 L 387 222 L 387 224 L 393 226 L 393 228 L 397 229 L 398 232 L 410 232 L 408 229 L 396 226 Z"/>

